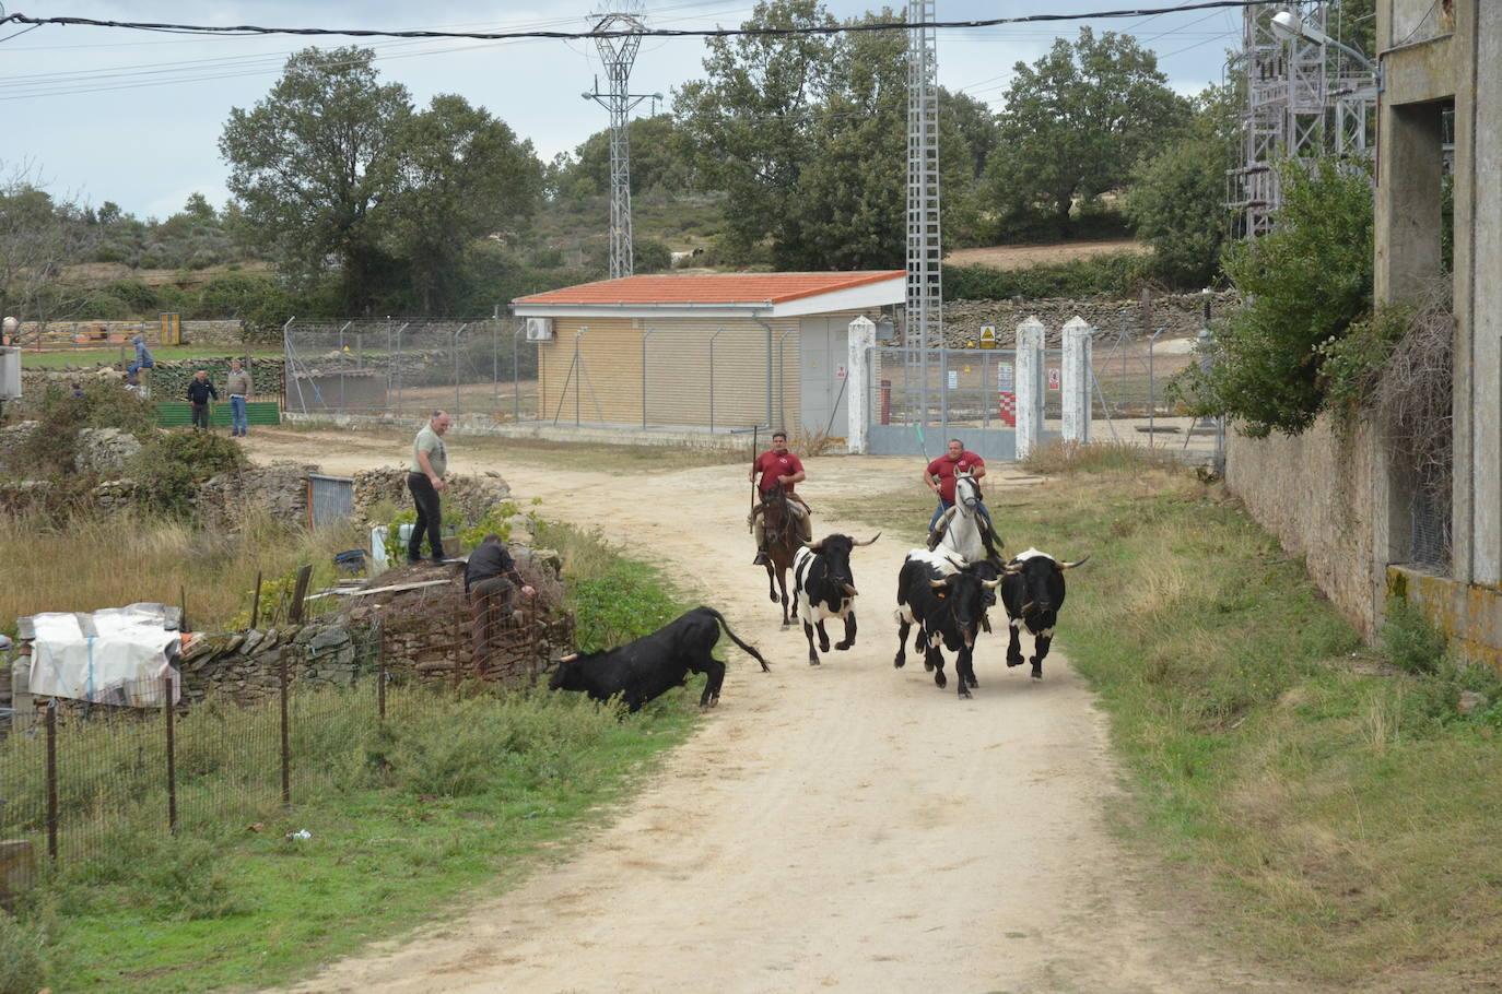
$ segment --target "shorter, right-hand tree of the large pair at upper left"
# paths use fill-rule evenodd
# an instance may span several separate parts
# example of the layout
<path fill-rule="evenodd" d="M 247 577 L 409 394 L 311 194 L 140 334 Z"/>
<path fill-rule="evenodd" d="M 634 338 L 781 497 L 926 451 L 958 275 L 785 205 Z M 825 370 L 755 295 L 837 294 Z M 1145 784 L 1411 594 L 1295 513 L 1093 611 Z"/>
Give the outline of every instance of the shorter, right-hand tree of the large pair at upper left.
<path fill-rule="evenodd" d="M 464 296 L 469 242 L 524 225 L 542 197 L 530 141 L 463 96 L 440 95 L 400 135 L 401 182 L 388 254 L 407 260 L 425 314 L 452 314 Z"/>

